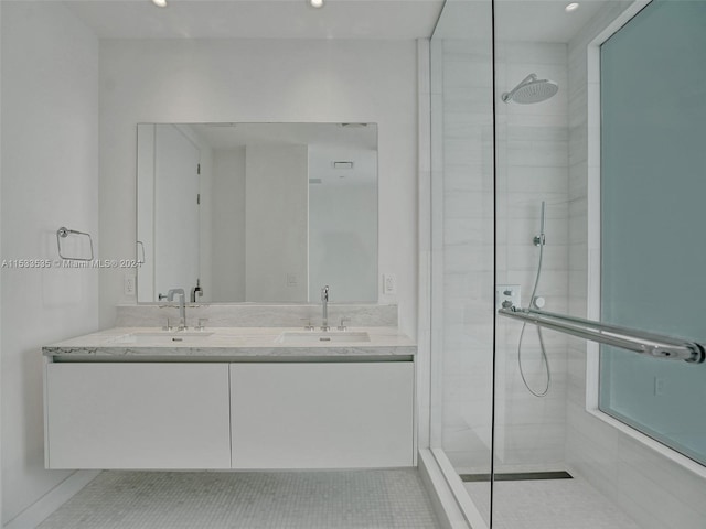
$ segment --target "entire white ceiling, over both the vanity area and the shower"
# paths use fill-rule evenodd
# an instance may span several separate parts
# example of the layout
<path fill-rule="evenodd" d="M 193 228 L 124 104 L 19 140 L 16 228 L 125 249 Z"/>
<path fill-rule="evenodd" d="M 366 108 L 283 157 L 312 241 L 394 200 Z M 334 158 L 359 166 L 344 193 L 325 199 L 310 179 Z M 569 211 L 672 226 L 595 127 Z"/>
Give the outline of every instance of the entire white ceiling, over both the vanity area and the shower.
<path fill-rule="evenodd" d="M 100 39 L 384 39 L 490 35 L 489 0 L 66 0 Z M 609 0 L 495 0 L 501 40 L 568 42 Z M 473 34 L 474 33 L 474 34 Z"/>

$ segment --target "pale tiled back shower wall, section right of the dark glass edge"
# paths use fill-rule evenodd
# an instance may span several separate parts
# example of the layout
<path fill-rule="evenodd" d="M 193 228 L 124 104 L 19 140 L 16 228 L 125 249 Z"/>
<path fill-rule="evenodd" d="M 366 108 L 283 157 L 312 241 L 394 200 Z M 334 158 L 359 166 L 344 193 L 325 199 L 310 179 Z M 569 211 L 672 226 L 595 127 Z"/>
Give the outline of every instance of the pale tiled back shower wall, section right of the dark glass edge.
<path fill-rule="evenodd" d="M 499 22 L 502 24 L 502 21 Z M 537 274 L 542 202 L 545 236 L 537 295 L 544 310 L 566 312 L 568 303 L 568 89 L 567 46 L 560 43 L 500 42 L 496 46 L 499 94 L 530 74 L 559 85 L 550 99 L 533 105 L 498 98 L 498 283 L 518 284 L 527 306 Z M 496 468 L 564 468 L 567 339 L 544 331 L 550 385 L 543 398 L 525 388 L 518 369 L 522 324 L 498 321 Z M 546 387 L 537 331 L 525 330 L 522 365 L 535 392 Z"/>

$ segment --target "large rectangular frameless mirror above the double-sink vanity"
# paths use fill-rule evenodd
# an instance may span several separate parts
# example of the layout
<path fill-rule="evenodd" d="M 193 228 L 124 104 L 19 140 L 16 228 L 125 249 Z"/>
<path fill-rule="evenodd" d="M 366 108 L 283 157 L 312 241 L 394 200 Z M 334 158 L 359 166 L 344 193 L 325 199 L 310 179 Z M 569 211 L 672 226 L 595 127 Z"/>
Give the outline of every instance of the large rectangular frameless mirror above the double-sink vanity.
<path fill-rule="evenodd" d="M 139 302 L 377 302 L 376 125 L 137 132 Z"/>

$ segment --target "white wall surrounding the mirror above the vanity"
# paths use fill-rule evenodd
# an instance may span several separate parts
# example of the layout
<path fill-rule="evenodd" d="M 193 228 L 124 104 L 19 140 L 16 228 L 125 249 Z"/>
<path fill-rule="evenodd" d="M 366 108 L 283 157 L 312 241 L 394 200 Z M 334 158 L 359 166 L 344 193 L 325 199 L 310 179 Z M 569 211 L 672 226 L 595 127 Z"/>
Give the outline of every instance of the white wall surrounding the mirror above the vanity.
<path fill-rule="evenodd" d="M 378 274 L 398 282 L 379 301 L 398 301 L 402 328 L 416 335 L 416 80 L 414 41 L 101 41 L 101 256 L 135 255 L 137 122 L 376 122 Z M 104 327 L 116 303 L 135 301 L 122 276 L 101 272 Z"/>

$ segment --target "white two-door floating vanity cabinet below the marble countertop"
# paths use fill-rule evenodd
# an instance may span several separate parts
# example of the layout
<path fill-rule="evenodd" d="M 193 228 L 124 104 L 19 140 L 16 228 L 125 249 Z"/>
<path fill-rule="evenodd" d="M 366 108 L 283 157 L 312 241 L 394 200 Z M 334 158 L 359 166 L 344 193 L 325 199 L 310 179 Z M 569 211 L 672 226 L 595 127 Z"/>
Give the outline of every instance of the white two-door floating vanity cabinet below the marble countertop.
<path fill-rule="evenodd" d="M 47 359 L 46 467 L 414 465 L 411 358 L 180 358 Z"/>

